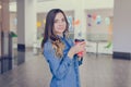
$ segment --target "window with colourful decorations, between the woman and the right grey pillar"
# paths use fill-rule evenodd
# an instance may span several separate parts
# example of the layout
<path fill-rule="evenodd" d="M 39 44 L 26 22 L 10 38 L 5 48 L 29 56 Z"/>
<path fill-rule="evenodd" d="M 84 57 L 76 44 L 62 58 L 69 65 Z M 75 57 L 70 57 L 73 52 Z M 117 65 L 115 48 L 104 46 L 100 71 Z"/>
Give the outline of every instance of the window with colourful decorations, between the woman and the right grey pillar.
<path fill-rule="evenodd" d="M 112 53 L 112 18 L 111 9 L 86 10 L 86 40 L 91 52 Z M 90 51 L 90 50 L 88 50 Z"/>

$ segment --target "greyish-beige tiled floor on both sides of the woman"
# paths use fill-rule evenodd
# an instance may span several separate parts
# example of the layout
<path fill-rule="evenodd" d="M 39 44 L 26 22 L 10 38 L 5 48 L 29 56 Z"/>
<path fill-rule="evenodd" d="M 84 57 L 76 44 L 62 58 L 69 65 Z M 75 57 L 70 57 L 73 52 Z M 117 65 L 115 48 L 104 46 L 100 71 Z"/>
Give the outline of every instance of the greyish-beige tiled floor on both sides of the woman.
<path fill-rule="evenodd" d="M 0 87 L 49 87 L 51 74 L 44 57 L 26 52 L 24 61 L 0 75 Z M 81 87 L 131 87 L 131 61 L 87 53 L 80 75 Z"/>

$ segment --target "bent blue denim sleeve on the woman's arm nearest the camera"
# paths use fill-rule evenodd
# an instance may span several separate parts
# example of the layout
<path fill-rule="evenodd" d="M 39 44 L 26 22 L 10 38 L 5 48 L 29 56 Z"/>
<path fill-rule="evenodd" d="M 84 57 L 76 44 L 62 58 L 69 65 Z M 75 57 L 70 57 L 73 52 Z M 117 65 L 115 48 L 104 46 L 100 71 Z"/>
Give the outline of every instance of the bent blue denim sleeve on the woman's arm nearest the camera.
<path fill-rule="evenodd" d="M 56 78 L 63 78 L 70 71 L 70 66 L 72 65 L 72 59 L 70 59 L 68 55 L 63 58 L 56 57 L 56 52 L 52 49 L 51 42 L 45 44 L 44 55 L 49 63 L 52 75 Z"/>

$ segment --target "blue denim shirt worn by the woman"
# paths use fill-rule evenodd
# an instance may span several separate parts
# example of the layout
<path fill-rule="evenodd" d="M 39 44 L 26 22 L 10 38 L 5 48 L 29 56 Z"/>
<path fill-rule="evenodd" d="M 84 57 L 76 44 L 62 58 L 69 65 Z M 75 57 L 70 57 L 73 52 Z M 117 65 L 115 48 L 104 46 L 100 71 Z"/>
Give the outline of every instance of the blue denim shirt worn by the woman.
<path fill-rule="evenodd" d="M 74 45 L 72 39 L 61 38 L 61 41 L 66 46 L 62 58 L 56 55 L 50 40 L 44 45 L 44 57 L 52 74 L 50 87 L 81 87 L 79 65 L 82 64 L 82 60 L 79 61 L 76 54 L 73 59 L 68 57 L 70 48 Z"/>

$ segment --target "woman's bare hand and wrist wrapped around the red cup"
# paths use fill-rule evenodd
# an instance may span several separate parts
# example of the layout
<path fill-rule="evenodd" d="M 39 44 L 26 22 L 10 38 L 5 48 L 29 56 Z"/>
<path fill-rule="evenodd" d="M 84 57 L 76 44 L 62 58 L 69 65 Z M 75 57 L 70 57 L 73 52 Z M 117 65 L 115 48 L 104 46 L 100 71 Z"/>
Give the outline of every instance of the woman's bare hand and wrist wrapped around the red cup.
<path fill-rule="evenodd" d="M 79 42 L 76 45 L 74 45 L 68 52 L 68 57 L 70 57 L 71 59 L 73 58 L 74 54 L 84 51 L 85 52 L 85 41 Z"/>

